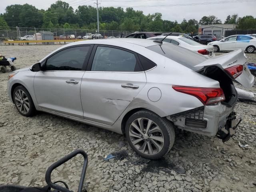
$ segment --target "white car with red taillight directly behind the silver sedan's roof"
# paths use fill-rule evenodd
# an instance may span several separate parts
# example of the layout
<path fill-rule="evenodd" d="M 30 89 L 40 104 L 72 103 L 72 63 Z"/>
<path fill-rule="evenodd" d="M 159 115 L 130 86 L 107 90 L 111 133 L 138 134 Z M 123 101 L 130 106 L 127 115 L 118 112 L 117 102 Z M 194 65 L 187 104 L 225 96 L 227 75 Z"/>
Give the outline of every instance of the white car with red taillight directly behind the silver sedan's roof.
<path fill-rule="evenodd" d="M 165 37 L 166 36 L 156 36 L 156 37 L 150 37 L 147 39 L 162 40 Z M 186 37 L 183 37 L 183 36 L 167 36 L 164 39 L 164 42 L 168 42 L 168 43 L 172 43 L 172 44 L 184 47 L 186 49 L 192 50 L 196 53 L 200 53 L 200 54 L 208 56 L 208 57 L 215 56 L 213 46 L 202 45 L 198 42 L 195 42 L 195 41 L 188 39 Z"/>

